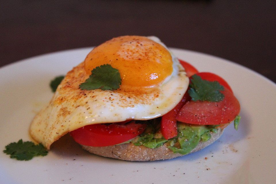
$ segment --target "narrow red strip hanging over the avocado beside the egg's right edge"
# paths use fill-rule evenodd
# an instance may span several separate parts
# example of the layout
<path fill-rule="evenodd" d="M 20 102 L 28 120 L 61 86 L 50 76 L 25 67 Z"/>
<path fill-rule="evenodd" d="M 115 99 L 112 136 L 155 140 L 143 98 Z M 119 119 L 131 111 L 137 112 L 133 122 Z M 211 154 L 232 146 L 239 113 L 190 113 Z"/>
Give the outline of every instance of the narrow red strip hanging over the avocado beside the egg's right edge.
<path fill-rule="evenodd" d="M 186 92 L 181 101 L 175 106 L 175 108 L 162 116 L 160 130 L 165 139 L 171 139 L 177 136 L 176 115 L 183 107 L 183 105 L 190 99 L 191 97 Z"/>

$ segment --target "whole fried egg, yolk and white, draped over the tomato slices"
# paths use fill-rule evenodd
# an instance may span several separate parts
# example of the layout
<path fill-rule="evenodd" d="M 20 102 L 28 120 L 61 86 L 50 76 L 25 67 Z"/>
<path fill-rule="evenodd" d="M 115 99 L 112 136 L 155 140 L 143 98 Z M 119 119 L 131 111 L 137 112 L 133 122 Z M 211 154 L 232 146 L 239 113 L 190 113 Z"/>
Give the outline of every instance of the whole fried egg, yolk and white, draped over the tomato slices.
<path fill-rule="evenodd" d="M 81 90 L 91 70 L 103 64 L 119 70 L 120 88 Z M 30 135 L 49 149 L 66 133 L 89 124 L 156 118 L 178 104 L 188 85 L 184 68 L 157 37 L 116 37 L 66 74 L 49 105 L 34 117 Z"/>

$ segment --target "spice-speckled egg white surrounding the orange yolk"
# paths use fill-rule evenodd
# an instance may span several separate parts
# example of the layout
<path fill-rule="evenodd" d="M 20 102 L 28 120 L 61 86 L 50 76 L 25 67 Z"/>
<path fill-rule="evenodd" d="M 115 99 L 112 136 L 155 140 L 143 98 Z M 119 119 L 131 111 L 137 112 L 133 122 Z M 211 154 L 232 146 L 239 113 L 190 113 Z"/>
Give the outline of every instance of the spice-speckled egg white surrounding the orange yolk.
<path fill-rule="evenodd" d="M 168 49 L 157 37 L 148 38 Z M 171 55 L 173 72 L 162 84 L 128 91 L 79 89 L 89 76 L 82 62 L 67 73 L 49 105 L 34 117 L 30 135 L 49 149 L 66 133 L 89 124 L 148 120 L 166 114 L 178 104 L 189 85 L 184 68 Z"/>

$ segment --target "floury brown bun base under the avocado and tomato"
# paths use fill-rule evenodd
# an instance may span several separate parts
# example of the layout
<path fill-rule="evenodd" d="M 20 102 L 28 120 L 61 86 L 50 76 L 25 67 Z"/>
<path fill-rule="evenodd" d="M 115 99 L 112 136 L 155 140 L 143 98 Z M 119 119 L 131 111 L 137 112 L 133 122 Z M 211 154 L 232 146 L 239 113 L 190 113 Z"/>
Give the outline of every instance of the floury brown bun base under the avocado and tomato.
<path fill-rule="evenodd" d="M 206 142 L 200 141 L 199 144 L 190 153 L 201 150 L 204 147 L 212 144 L 214 141 L 221 137 L 222 133 L 223 129 L 218 129 L 217 133 L 212 133 L 211 139 Z M 142 145 L 135 146 L 133 143 L 106 147 L 92 147 L 85 145 L 81 146 L 83 147 L 83 149 L 96 155 L 129 161 L 166 160 L 183 156 L 182 154 L 174 153 L 172 150 L 170 150 L 168 148 L 168 143 L 165 143 L 163 146 L 154 149 Z"/>

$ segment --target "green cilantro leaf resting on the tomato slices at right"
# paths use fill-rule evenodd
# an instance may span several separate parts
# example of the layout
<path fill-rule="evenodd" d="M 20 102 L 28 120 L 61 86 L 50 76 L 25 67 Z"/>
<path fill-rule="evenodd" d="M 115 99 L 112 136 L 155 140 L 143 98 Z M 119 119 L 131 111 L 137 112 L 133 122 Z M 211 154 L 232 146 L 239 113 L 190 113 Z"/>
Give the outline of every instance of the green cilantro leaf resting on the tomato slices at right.
<path fill-rule="evenodd" d="M 190 89 L 188 91 L 193 101 L 222 101 L 224 95 L 220 92 L 224 87 L 217 81 L 206 81 L 194 74 L 191 78 Z"/>

